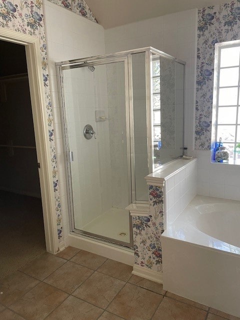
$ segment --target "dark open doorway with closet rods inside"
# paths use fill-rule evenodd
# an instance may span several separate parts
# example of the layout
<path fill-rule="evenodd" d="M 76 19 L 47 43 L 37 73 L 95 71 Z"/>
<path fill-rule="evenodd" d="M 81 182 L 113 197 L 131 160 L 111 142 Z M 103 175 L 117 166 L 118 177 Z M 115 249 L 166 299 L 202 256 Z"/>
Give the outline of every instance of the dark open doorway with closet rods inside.
<path fill-rule="evenodd" d="M 25 46 L 0 40 L 0 278 L 46 250 Z"/>

